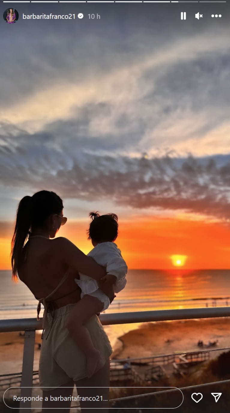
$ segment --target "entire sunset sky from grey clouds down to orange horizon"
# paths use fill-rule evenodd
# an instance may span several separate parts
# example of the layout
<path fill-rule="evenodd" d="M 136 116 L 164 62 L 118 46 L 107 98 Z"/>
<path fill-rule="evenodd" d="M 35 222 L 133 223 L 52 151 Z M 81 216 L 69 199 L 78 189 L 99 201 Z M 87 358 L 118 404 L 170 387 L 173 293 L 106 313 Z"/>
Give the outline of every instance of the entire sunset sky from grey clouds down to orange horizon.
<path fill-rule="evenodd" d="M 19 200 L 42 189 L 85 253 L 89 212 L 114 212 L 129 268 L 230 268 L 229 25 L 116 6 L 0 25 L 0 269 Z"/>

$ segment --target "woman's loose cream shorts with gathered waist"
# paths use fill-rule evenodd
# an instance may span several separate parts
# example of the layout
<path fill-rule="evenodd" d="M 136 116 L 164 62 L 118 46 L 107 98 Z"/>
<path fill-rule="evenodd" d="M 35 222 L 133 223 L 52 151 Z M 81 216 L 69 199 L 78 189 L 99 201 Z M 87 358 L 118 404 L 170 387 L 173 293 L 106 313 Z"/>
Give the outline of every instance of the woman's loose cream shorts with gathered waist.
<path fill-rule="evenodd" d="M 87 377 L 86 357 L 70 337 L 66 320 L 75 304 L 68 304 L 52 313 L 45 314 L 45 332 L 39 361 L 40 387 L 49 391 L 67 386 L 70 379 L 78 381 Z M 104 366 L 113 350 L 99 318 L 92 316 L 85 323 L 94 347 L 100 351 L 95 371 Z M 55 410 L 55 409 L 54 409 Z M 58 410 L 58 409 L 57 409 Z"/>

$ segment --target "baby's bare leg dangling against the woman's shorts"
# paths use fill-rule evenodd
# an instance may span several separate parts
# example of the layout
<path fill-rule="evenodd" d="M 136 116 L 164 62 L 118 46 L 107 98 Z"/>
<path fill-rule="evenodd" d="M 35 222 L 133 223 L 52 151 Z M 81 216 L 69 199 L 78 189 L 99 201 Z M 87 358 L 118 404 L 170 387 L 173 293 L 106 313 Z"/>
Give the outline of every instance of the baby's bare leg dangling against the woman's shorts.
<path fill-rule="evenodd" d="M 86 294 L 75 304 L 66 322 L 71 337 L 86 356 L 88 377 L 91 377 L 96 370 L 100 351 L 95 349 L 89 330 L 84 326 L 84 323 L 94 314 L 99 313 L 103 306 L 104 304 L 99 299 Z"/>

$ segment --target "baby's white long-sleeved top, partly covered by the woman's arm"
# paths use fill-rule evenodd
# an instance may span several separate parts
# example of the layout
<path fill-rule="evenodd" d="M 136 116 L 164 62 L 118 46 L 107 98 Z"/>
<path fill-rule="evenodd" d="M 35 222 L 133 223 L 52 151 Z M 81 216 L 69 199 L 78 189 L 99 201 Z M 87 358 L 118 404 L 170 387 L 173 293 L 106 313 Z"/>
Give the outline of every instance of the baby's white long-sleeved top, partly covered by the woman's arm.
<path fill-rule="evenodd" d="M 117 245 L 114 242 L 101 242 L 87 255 L 92 257 L 101 266 L 106 267 L 107 274 L 112 274 L 117 277 L 114 284 L 114 292 L 117 293 L 123 290 L 127 282 L 125 276 L 128 268 L 122 258 L 120 249 L 117 248 Z M 99 287 L 96 280 L 82 273 L 79 273 L 79 276 L 80 280 L 75 279 L 75 281 L 80 288 L 83 287 L 82 283 L 84 283 L 84 294 L 90 294 L 98 290 Z"/>

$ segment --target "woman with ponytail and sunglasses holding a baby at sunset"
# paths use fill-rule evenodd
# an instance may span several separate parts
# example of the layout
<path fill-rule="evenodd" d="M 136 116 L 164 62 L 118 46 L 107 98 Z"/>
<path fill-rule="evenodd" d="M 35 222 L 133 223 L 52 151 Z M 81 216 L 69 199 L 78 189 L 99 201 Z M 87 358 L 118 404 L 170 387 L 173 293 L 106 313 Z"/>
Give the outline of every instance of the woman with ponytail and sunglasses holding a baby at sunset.
<path fill-rule="evenodd" d="M 65 325 L 68 314 L 80 299 L 80 289 L 74 280 L 78 271 L 94 278 L 110 301 L 114 298 L 113 287 L 105 288 L 100 281 L 106 273 L 105 268 L 66 238 L 52 239 L 66 221 L 62 200 L 54 192 L 40 191 L 21 199 L 12 239 L 13 278 L 15 280 L 18 274 L 39 299 L 38 316 L 40 303 L 45 306 L 45 331 L 39 363 L 40 386 L 44 388 L 42 411 L 53 412 L 51 408 L 59 408 L 59 412 L 68 412 L 66 408 L 70 407 L 71 400 L 54 404 L 50 396 L 71 396 L 75 384 L 81 397 L 100 396 L 95 402 L 81 401 L 84 411 L 90 411 L 91 407 L 99 412 L 103 407 L 103 412 L 107 412 L 109 356 L 112 353 L 108 337 L 96 315 L 85 324 L 94 346 L 101 353 L 96 373 L 86 378 L 84 354 L 69 336 Z M 48 401 L 44 400 L 46 396 Z M 101 396 L 107 401 L 101 401 Z"/>

